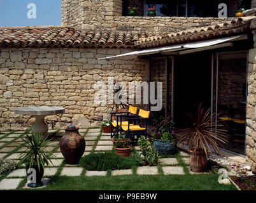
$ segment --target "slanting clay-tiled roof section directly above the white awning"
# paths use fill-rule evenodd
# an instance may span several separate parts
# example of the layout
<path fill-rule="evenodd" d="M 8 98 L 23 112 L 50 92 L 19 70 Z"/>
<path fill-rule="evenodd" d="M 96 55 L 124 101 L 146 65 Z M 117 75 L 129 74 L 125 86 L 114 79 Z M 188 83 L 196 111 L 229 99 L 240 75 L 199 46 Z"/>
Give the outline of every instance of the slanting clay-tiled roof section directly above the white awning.
<path fill-rule="evenodd" d="M 217 25 L 188 29 L 162 36 L 141 38 L 134 44 L 139 48 L 152 48 L 168 44 L 178 44 L 191 41 L 201 41 L 216 37 L 232 36 L 250 30 L 251 22 L 255 18 L 256 16 L 246 16 Z"/>

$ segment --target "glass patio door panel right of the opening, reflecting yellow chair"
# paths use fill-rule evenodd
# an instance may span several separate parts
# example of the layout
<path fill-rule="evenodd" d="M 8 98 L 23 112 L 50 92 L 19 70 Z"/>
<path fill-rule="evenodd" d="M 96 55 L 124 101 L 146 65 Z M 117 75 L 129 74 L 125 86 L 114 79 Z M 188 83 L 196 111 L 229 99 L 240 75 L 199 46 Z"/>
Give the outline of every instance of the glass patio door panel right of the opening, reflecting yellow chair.
<path fill-rule="evenodd" d="M 229 134 L 227 150 L 245 154 L 247 52 L 217 53 L 213 107 Z"/>

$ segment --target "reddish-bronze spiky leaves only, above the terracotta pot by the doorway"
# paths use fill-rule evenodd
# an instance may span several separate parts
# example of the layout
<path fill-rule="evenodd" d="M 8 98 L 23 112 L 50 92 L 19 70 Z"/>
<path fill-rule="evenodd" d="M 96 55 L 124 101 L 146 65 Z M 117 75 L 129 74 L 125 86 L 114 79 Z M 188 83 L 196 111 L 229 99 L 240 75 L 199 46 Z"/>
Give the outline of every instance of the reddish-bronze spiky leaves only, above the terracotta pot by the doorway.
<path fill-rule="evenodd" d="M 215 152 L 220 153 L 218 146 L 224 148 L 224 144 L 227 143 L 227 130 L 220 129 L 222 124 L 220 121 L 216 121 L 220 114 L 214 113 L 212 116 L 210 114 L 211 109 L 204 110 L 200 104 L 197 108 L 197 115 L 187 114 L 190 119 L 194 122 L 193 128 L 180 129 L 176 134 L 179 134 L 180 137 L 175 141 L 180 140 L 180 145 L 187 140 L 188 145 L 194 145 L 194 152 L 203 150 L 206 155 L 208 155 L 208 150 L 211 152 L 211 147 Z"/>

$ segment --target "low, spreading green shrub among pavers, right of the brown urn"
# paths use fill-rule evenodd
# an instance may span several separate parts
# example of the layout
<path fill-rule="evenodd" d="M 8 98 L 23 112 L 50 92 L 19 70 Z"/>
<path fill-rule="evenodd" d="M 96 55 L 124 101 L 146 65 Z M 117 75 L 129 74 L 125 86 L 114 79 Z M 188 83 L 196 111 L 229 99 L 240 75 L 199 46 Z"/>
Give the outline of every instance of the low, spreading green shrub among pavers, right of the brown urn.
<path fill-rule="evenodd" d="M 80 164 L 90 171 L 131 169 L 132 166 L 138 166 L 134 157 L 121 157 L 112 152 L 89 154 L 80 160 Z"/>

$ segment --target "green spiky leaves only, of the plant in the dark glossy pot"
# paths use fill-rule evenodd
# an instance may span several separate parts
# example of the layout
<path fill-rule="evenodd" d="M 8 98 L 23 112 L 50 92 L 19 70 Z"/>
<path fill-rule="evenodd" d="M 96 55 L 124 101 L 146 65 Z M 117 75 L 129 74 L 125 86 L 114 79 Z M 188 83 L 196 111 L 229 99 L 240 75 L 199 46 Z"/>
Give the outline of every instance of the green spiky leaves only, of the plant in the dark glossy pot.
<path fill-rule="evenodd" d="M 45 164 L 46 166 L 49 166 L 49 162 L 52 164 L 50 160 L 52 153 L 46 150 L 46 147 L 50 146 L 49 143 L 52 138 L 48 139 L 46 136 L 42 138 L 41 134 L 25 135 L 26 138 L 22 138 L 22 147 L 26 150 L 20 153 L 18 167 L 22 166 L 22 164 L 25 164 L 28 168 L 38 165 L 38 170 L 40 170 L 40 166 L 44 168 Z"/>

